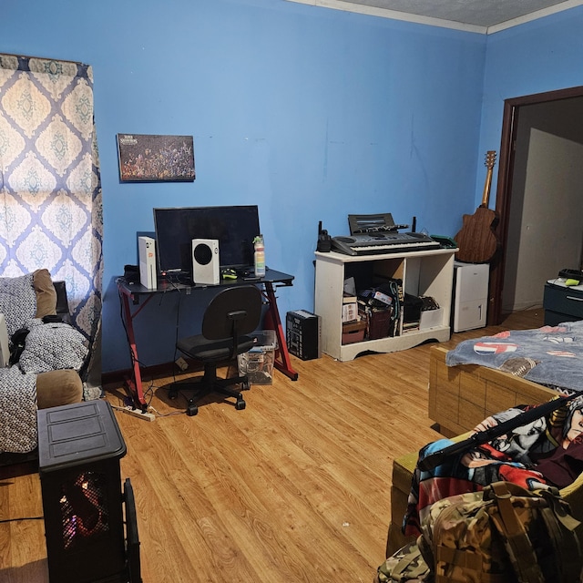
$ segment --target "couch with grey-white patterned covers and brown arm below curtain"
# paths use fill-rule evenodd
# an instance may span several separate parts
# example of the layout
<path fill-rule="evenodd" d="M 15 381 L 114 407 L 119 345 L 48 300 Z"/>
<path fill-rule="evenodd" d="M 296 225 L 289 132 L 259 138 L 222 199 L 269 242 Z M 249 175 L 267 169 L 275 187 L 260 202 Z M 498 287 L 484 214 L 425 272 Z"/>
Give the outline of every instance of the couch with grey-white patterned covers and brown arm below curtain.
<path fill-rule="evenodd" d="M 87 362 L 88 343 L 68 323 L 63 283 L 52 281 L 45 269 L 0 278 L 0 313 L 5 315 L 11 353 L 15 332 L 26 330 L 18 361 L 0 368 L 2 465 L 36 450 L 37 408 L 83 400 L 79 373 Z"/>

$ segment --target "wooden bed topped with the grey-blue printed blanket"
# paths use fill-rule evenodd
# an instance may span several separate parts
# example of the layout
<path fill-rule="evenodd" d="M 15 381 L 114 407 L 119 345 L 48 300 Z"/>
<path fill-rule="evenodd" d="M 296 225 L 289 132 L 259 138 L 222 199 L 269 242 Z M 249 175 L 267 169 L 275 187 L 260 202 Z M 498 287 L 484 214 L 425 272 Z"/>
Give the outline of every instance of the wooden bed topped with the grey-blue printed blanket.
<path fill-rule="evenodd" d="M 473 429 L 516 404 L 539 404 L 558 389 L 583 390 L 583 321 L 500 332 L 432 346 L 429 418 L 445 436 Z"/>

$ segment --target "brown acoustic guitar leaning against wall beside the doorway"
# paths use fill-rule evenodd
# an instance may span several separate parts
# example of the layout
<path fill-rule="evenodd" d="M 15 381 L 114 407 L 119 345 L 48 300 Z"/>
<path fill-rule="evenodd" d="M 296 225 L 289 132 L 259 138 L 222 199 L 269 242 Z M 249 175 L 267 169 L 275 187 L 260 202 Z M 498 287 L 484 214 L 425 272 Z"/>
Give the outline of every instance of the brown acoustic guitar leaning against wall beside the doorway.
<path fill-rule="evenodd" d="M 498 219 L 496 211 L 488 209 L 490 187 L 492 186 L 492 169 L 496 164 L 496 152 L 486 152 L 486 183 L 482 195 L 482 204 L 473 215 L 463 216 L 462 229 L 455 235 L 459 251 L 455 254 L 457 261 L 465 263 L 487 263 L 490 261 L 498 246 L 494 227 Z"/>

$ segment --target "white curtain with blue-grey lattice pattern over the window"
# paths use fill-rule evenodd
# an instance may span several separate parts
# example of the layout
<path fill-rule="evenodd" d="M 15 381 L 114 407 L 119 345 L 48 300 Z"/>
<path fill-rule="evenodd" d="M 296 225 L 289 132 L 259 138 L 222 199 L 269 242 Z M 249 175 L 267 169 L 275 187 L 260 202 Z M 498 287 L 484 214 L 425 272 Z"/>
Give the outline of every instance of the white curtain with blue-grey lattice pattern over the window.
<path fill-rule="evenodd" d="M 91 66 L 0 54 L 0 275 L 46 268 L 66 281 L 92 384 L 101 373 L 102 240 Z"/>

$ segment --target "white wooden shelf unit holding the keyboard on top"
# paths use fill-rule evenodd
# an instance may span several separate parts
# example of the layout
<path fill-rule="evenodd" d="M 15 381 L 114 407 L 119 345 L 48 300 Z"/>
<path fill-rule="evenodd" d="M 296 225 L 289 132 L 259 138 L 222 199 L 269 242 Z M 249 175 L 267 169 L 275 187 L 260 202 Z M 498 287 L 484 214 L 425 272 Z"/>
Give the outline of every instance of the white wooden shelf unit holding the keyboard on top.
<path fill-rule="evenodd" d="M 336 251 L 316 251 L 314 312 L 322 317 L 322 352 L 339 361 L 351 361 L 361 353 L 393 353 L 428 340 L 445 342 L 451 335 L 450 316 L 456 249 L 352 256 Z M 391 278 L 404 282 L 404 292 L 431 296 L 439 304 L 441 318 L 431 328 L 399 331 L 399 335 L 360 343 L 343 344 L 343 285 L 354 277 L 357 289 L 378 285 Z"/>

